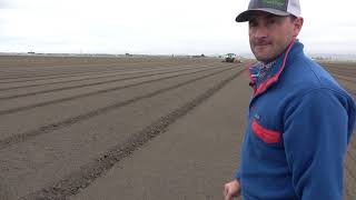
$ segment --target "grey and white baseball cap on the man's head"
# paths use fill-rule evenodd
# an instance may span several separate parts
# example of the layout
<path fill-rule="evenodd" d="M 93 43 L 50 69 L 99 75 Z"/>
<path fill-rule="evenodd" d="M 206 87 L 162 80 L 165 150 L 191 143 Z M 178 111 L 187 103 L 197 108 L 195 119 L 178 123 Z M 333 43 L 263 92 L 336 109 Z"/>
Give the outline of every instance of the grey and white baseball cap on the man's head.
<path fill-rule="evenodd" d="M 236 17 L 237 22 L 248 21 L 256 10 L 269 12 L 276 16 L 300 17 L 299 0 L 250 0 L 248 9 Z"/>

